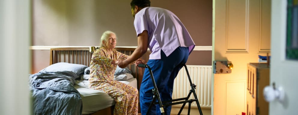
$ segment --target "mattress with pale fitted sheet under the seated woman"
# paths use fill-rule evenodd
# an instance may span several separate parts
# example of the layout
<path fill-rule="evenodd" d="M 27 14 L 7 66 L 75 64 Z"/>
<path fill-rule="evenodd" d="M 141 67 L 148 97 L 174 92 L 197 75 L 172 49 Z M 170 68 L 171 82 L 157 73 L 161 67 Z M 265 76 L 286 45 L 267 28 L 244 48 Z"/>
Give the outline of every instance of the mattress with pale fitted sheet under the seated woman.
<path fill-rule="evenodd" d="M 120 81 L 125 84 L 137 88 L 137 79 L 131 78 L 126 81 Z M 99 90 L 93 90 L 88 88 L 88 80 L 76 80 L 74 87 L 79 91 L 82 102 L 83 110 L 82 115 L 92 114 L 96 111 L 115 105 L 114 98 L 107 93 Z"/>

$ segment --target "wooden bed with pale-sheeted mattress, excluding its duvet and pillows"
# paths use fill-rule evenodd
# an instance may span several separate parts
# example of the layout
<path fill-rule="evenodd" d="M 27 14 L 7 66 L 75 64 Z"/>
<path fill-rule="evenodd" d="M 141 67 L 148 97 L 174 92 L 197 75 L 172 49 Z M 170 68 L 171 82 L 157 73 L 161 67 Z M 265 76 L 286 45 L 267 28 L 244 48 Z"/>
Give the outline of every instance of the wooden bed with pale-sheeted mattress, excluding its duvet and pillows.
<path fill-rule="evenodd" d="M 94 47 L 93 47 L 94 48 Z M 84 65 L 89 68 L 92 52 L 91 47 L 71 47 L 71 48 L 53 48 L 50 49 L 50 66 L 57 63 L 71 63 Z M 115 48 L 117 51 L 131 55 L 135 50 L 134 48 Z M 147 52 L 142 59 L 148 60 L 150 52 Z M 79 92 L 82 101 L 81 113 L 83 115 L 112 115 L 114 111 L 114 98 L 108 94 L 88 88 L 88 80 L 86 76 L 87 68 L 84 70 L 84 75 L 78 75 L 75 79 L 74 87 Z M 117 68 L 118 70 L 118 68 Z M 117 71 L 116 70 L 116 71 Z M 130 73 L 124 72 L 121 75 L 126 74 L 129 79 L 122 79 L 120 82 L 129 84 L 139 89 L 144 70 L 139 70 L 135 65 L 128 65 L 123 71 L 129 70 Z M 116 74 L 116 73 L 115 73 Z M 119 75 L 120 76 L 120 75 Z M 116 76 L 117 77 L 117 76 Z"/>

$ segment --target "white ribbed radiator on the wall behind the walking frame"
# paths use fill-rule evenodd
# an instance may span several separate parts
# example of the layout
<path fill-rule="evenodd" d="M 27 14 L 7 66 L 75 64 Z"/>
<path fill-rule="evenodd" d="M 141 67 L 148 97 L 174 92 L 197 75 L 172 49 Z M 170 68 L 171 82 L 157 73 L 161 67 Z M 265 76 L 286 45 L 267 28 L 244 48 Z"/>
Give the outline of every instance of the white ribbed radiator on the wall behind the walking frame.
<path fill-rule="evenodd" d="M 212 66 L 193 66 L 187 65 L 188 72 L 193 84 L 196 85 L 196 95 L 199 99 L 201 108 L 211 108 L 211 75 Z M 173 99 L 187 97 L 190 91 L 190 83 L 185 68 L 183 67 L 177 78 L 174 80 Z M 190 99 L 194 99 L 193 94 Z M 175 106 L 182 106 L 175 105 Z M 185 105 L 188 106 L 188 103 Z M 196 102 L 191 107 L 197 107 Z"/>

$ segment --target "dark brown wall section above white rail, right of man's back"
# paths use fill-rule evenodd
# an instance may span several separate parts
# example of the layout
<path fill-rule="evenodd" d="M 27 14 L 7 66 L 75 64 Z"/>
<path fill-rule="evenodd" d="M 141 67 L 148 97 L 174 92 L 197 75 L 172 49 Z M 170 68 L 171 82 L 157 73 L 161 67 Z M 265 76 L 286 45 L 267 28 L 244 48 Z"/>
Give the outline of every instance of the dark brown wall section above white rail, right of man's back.
<path fill-rule="evenodd" d="M 212 46 L 212 0 L 151 0 L 151 6 L 175 13 L 196 46 Z"/>

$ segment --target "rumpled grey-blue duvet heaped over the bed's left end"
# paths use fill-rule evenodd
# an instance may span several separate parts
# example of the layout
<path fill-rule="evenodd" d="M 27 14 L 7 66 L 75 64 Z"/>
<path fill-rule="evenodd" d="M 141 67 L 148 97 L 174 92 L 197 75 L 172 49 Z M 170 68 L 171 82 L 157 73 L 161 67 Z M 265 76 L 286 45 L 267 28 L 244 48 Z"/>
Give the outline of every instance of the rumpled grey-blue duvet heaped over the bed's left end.
<path fill-rule="evenodd" d="M 29 76 L 34 115 L 81 115 L 82 99 L 71 71 L 39 72 Z"/>

